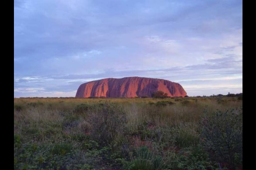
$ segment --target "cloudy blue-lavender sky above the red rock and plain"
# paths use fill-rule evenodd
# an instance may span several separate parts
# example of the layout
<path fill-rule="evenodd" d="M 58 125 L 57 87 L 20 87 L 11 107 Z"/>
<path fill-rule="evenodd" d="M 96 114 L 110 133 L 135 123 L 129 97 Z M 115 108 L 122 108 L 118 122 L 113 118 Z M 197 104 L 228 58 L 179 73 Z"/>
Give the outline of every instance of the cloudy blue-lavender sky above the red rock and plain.
<path fill-rule="evenodd" d="M 14 0 L 14 98 L 130 76 L 243 92 L 242 0 Z"/>

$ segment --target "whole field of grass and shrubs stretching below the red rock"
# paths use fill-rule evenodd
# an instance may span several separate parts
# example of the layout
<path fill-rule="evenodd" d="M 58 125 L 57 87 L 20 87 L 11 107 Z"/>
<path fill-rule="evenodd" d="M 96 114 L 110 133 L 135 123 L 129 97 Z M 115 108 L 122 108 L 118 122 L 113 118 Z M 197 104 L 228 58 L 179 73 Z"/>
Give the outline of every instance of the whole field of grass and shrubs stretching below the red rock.
<path fill-rule="evenodd" d="M 14 169 L 242 170 L 242 103 L 14 98 Z"/>

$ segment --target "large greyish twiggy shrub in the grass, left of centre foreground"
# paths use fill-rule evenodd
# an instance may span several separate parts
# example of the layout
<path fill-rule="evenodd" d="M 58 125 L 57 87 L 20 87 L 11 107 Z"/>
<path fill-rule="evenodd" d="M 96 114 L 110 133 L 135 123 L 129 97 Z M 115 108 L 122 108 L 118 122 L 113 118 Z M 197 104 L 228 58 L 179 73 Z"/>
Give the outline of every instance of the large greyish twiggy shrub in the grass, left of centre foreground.
<path fill-rule="evenodd" d="M 125 112 L 114 103 L 101 103 L 88 114 L 89 131 L 94 140 L 101 145 L 110 144 L 118 134 L 125 130 Z"/>

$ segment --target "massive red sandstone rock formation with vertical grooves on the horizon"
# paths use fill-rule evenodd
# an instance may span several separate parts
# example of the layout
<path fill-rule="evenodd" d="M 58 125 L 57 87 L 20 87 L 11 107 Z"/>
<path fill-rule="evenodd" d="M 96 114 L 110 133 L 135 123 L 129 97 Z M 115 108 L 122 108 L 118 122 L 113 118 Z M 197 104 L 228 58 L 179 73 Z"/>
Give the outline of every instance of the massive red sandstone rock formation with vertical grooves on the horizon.
<path fill-rule="evenodd" d="M 81 84 L 76 97 L 133 98 L 145 95 L 151 97 L 153 92 L 158 90 L 167 93 L 169 97 L 187 95 L 179 83 L 158 78 L 125 77 L 105 78 Z"/>

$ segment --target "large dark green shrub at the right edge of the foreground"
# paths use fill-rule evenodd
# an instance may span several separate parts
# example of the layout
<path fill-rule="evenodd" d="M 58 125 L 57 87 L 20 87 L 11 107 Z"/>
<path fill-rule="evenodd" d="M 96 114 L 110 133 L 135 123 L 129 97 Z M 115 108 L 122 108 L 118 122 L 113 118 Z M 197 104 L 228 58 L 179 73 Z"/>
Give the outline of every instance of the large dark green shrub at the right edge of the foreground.
<path fill-rule="evenodd" d="M 205 111 L 201 121 L 203 146 L 213 160 L 228 163 L 232 169 L 243 164 L 242 116 L 242 108 L 211 114 Z"/>

